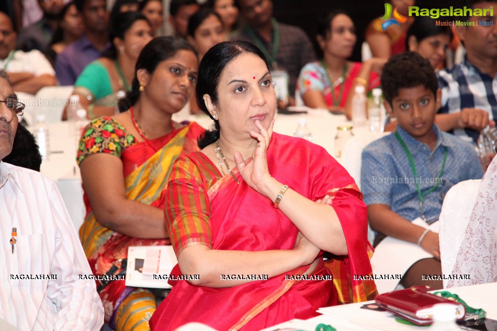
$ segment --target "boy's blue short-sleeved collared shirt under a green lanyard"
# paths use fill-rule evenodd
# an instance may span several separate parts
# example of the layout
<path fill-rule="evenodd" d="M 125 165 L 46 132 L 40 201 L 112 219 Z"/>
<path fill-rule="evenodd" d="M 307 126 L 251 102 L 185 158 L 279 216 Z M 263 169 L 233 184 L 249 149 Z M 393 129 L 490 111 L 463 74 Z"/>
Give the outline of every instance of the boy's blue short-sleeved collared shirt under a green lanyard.
<path fill-rule="evenodd" d="M 436 125 L 433 126 L 433 130 L 437 140 L 435 148 L 430 151 L 427 144 L 414 139 L 400 126 L 397 127 L 397 132 L 413 155 L 416 178 L 406 151 L 394 133 L 373 141 L 364 148 L 361 190 L 366 205 L 386 204 L 392 211 L 409 221 L 420 217 L 415 181 L 419 183 L 421 194 L 435 185 L 436 177 L 442 167 L 444 147 L 447 147 L 447 160 L 441 184 L 424 197 L 423 212 L 428 223 L 438 219 L 443 198 L 453 185 L 483 177 L 478 155 L 471 143 L 450 133 L 441 132 Z"/>

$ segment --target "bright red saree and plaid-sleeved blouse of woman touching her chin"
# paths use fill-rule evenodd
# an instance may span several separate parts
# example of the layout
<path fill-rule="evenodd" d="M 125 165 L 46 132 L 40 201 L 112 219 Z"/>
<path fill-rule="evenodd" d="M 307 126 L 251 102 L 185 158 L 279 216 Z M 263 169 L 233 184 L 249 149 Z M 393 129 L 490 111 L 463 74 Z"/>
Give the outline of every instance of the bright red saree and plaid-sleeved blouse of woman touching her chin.
<path fill-rule="evenodd" d="M 176 281 L 150 320 L 152 330 L 174 330 L 188 322 L 217 330 L 260 330 L 293 318 L 316 316 L 319 307 L 366 301 L 376 295 L 374 281 L 353 280 L 371 274 L 366 206 L 353 179 L 322 147 L 273 133 L 267 151 L 270 174 L 312 200 L 330 195 L 349 255 L 320 258 L 311 275 L 332 280 L 298 280 L 309 266 L 228 288 Z M 191 245 L 216 250 L 291 250 L 299 230 L 270 199 L 243 181 L 238 169 L 222 177 L 201 152 L 182 155 L 169 178 L 166 224 L 176 255 Z M 176 266 L 172 273 L 178 274 Z M 231 276 L 231 275 L 227 275 Z M 200 278 L 202 275 L 200 275 Z"/>

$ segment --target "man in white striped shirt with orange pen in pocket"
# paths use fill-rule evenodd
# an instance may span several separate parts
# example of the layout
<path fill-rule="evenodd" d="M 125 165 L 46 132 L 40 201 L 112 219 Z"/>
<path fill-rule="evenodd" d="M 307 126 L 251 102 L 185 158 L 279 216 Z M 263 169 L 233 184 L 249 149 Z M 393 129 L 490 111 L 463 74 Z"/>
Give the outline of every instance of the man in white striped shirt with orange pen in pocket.
<path fill-rule="evenodd" d="M 0 160 L 12 149 L 17 102 L 0 69 Z M 19 330 L 98 331 L 103 307 L 54 183 L 0 161 L 0 320 Z M 87 277 L 86 277 L 87 278 Z"/>

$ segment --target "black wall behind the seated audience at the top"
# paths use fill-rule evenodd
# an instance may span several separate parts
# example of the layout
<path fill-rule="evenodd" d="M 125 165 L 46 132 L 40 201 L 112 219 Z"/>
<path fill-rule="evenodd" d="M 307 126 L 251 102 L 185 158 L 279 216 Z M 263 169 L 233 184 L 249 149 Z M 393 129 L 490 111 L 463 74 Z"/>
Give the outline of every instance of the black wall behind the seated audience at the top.
<path fill-rule="evenodd" d="M 381 17 L 385 11 L 386 0 L 273 0 L 274 17 L 280 22 L 297 25 L 304 29 L 315 45 L 316 22 L 334 9 L 347 11 L 354 21 L 357 31 L 357 42 L 352 61 L 360 61 L 361 44 L 364 41 L 364 30 L 367 24 L 376 17 Z M 464 0 L 416 0 L 419 8 L 448 8 L 462 7 Z M 497 10 L 497 8 L 495 8 Z"/>

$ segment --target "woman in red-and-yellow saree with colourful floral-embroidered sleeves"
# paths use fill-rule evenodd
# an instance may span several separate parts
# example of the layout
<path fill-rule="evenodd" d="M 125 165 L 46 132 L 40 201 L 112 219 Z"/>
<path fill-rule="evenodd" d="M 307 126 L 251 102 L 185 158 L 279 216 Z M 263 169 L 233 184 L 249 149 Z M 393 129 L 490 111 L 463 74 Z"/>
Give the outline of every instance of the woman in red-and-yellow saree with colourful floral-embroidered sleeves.
<path fill-rule="evenodd" d="M 120 272 L 129 246 L 170 244 L 164 226 L 167 178 L 179 154 L 198 150 L 204 132 L 171 116 L 193 94 L 197 67 L 195 51 L 182 39 L 152 40 L 138 58 L 122 112 L 91 121 L 83 132 L 78 163 L 86 217 L 80 236 L 94 274 Z M 152 292 L 126 287 L 125 280 L 97 282 L 97 290 L 113 330 L 150 330 Z"/>

